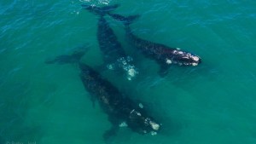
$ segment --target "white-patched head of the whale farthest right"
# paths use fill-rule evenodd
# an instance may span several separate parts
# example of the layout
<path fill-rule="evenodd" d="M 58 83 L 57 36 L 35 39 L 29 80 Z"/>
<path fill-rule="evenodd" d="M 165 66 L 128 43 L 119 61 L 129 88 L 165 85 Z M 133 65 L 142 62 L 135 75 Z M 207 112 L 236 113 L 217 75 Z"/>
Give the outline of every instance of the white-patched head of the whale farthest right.
<path fill-rule="evenodd" d="M 180 66 L 197 66 L 201 63 L 201 58 L 198 55 L 193 55 L 180 49 L 174 49 L 166 58 L 167 65 L 172 63 Z"/>

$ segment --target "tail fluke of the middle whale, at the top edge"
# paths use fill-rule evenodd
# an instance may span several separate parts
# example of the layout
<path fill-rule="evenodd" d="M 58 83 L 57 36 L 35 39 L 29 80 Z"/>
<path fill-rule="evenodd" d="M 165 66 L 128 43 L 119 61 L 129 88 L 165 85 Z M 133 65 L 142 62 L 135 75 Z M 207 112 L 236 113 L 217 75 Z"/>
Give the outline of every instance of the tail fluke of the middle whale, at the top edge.
<path fill-rule="evenodd" d="M 84 9 L 89 10 L 93 14 L 105 15 L 105 14 L 109 14 L 114 9 L 117 9 L 119 7 L 119 4 L 114 4 L 114 5 L 105 6 L 105 7 L 101 7 L 101 8 L 96 7 L 94 5 L 86 5 L 86 4 L 82 4 L 81 6 Z"/>

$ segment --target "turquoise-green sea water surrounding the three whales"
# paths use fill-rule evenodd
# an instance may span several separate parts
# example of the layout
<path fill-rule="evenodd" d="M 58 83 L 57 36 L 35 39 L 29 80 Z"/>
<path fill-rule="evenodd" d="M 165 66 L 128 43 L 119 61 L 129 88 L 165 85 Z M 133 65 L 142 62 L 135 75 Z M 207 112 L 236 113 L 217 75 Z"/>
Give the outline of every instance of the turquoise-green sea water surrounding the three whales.
<path fill-rule="evenodd" d="M 44 64 L 82 44 L 88 45 L 84 63 L 102 64 L 97 17 L 81 3 L 119 3 L 116 13 L 141 14 L 131 25 L 138 37 L 202 58 L 200 66 L 172 66 L 160 78 L 157 64 L 137 55 L 124 27 L 107 18 L 140 76 L 130 82 L 113 72 L 102 75 L 163 124 L 154 136 L 122 128 L 112 143 L 256 143 L 256 2 L 236 0 L 1 0 L 0 143 L 104 143 L 111 124 L 92 107 L 78 66 Z"/>

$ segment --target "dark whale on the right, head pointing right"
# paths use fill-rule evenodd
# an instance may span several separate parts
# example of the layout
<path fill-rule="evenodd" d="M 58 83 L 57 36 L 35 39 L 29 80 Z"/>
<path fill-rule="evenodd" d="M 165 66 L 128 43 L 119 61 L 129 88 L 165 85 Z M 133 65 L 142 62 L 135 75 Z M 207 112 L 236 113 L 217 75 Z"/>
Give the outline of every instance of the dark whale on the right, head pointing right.
<path fill-rule="evenodd" d="M 131 31 L 131 23 L 137 20 L 139 15 L 123 16 L 120 14 L 108 13 L 113 19 L 121 21 L 125 26 L 125 35 L 128 42 L 143 55 L 151 60 L 155 60 L 160 65 L 160 76 L 166 76 L 170 66 L 198 66 L 201 63 L 201 57 L 194 55 L 179 48 L 171 48 L 162 43 L 154 43 L 137 37 Z"/>

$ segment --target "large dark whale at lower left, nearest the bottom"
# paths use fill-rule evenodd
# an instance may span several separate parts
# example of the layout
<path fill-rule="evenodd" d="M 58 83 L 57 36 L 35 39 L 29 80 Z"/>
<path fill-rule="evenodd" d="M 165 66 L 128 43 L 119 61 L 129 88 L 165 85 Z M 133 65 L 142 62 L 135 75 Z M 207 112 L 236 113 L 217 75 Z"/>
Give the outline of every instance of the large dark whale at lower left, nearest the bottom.
<path fill-rule="evenodd" d="M 156 135 L 162 124 L 156 122 L 147 112 L 143 104 L 131 100 L 121 93 L 106 78 L 96 72 L 92 67 L 80 62 L 84 51 L 75 51 L 72 55 L 60 55 L 53 60 L 46 60 L 47 64 L 77 63 L 80 70 L 80 79 L 84 89 L 93 97 L 91 100 L 98 101 L 102 111 L 108 114 L 108 121 L 112 124 L 111 129 L 104 135 L 104 141 L 109 142 L 117 134 L 120 127 L 128 127 L 138 134 Z"/>

